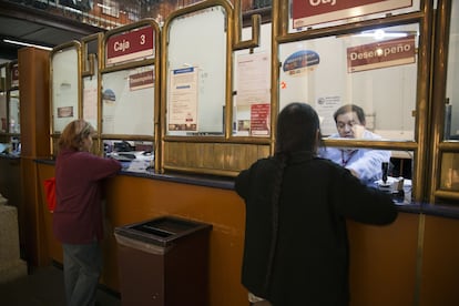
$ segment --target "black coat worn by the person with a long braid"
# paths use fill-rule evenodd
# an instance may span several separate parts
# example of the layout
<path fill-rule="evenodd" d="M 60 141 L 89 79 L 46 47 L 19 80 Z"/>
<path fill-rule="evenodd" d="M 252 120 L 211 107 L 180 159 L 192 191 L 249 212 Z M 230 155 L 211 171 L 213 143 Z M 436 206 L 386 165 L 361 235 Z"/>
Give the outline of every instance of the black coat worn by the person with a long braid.
<path fill-rule="evenodd" d="M 275 306 L 348 305 L 346 218 L 389 224 L 397 210 L 389 195 L 350 172 L 306 152 L 294 154 L 282 176 L 277 239 L 266 288 L 273 238 L 276 159 L 242 171 L 236 192 L 246 203 L 243 285 Z"/>

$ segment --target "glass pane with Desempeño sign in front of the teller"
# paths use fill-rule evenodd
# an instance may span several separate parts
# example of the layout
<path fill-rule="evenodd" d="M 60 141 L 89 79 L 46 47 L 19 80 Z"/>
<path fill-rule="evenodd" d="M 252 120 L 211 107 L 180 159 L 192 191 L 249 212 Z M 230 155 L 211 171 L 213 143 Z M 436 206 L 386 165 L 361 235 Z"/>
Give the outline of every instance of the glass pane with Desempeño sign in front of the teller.
<path fill-rule="evenodd" d="M 337 137 L 335 112 L 364 111 L 361 123 L 385 140 L 414 140 L 418 24 L 284 43 L 279 48 L 279 108 L 307 102 L 325 136 Z"/>

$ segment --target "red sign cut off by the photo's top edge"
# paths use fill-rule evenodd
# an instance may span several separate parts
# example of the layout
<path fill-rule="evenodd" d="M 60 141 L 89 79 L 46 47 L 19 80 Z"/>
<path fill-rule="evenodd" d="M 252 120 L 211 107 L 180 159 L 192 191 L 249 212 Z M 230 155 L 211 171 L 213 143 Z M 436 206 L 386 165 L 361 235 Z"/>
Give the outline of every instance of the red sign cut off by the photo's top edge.
<path fill-rule="evenodd" d="M 412 0 L 293 0 L 293 27 L 355 18 L 412 6 Z"/>

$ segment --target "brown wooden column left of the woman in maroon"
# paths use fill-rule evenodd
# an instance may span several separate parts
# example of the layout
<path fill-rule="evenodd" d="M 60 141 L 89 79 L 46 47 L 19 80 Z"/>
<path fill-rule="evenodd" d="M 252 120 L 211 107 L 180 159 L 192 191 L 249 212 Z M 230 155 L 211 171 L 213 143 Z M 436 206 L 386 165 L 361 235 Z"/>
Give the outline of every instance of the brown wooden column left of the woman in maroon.
<path fill-rule="evenodd" d="M 37 159 L 50 156 L 50 59 L 49 51 L 23 48 L 18 51 L 21 174 L 26 231 L 26 256 L 29 265 L 48 265 L 51 259 L 43 242 L 43 216 L 39 207 L 40 188 Z"/>

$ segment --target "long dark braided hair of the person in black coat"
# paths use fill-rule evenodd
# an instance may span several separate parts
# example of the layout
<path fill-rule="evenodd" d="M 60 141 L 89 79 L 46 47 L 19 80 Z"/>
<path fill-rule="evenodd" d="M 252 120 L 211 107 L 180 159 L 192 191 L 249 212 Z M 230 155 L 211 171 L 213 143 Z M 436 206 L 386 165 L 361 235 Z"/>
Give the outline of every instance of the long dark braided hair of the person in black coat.
<path fill-rule="evenodd" d="M 277 160 L 277 170 L 274 177 L 272 194 L 272 242 L 265 278 L 265 290 L 269 290 L 274 257 L 277 245 L 279 195 L 284 170 L 294 152 L 305 152 L 312 156 L 316 154 L 320 142 L 319 119 L 316 111 L 306 103 L 290 103 L 277 116 L 276 145 L 274 159 Z"/>

